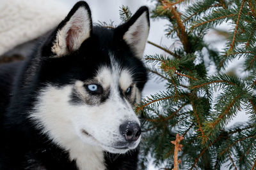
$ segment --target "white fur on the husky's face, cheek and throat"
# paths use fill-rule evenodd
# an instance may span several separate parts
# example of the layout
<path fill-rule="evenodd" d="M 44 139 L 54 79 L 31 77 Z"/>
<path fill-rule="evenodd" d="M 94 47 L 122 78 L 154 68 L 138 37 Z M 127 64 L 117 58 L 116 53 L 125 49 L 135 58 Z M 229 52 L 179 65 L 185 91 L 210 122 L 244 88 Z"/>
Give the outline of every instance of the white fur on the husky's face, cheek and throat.
<path fill-rule="evenodd" d="M 140 124 L 131 104 L 121 99 L 118 91 L 120 84 L 122 88 L 129 87 L 125 85 L 131 83 L 129 71 L 122 71 L 116 64 L 113 64 L 112 69 L 101 67 L 95 80 L 103 88 L 111 90 L 109 99 L 99 106 L 70 104 L 72 89 L 76 88 L 82 96 L 86 96 L 84 82 L 77 80 L 74 85 L 61 88 L 48 85 L 42 89 L 30 115 L 43 133 L 70 153 L 70 160 L 76 160 L 81 170 L 105 169 L 104 150 L 112 153 L 127 152 L 128 149 L 113 148 L 117 141 L 124 141 L 119 127 L 127 121 Z M 90 136 L 84 134 L 83 130 Z M 129 145 L 129 149 L 136 148 L 140 139 Z"/>

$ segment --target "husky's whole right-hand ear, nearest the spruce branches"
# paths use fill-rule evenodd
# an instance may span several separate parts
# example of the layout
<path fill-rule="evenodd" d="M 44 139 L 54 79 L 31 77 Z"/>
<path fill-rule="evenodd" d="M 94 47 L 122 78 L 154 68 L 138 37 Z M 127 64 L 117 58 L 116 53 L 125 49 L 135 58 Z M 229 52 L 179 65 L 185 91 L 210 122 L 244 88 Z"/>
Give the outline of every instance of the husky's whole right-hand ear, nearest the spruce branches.
<path fill-rule="evenodd" d="M 142 59 L 149 32 L 149 13 L 147 6 L 141 6 L 127 21 L 115 29 L 115 34 L 124 39 L 136 57 Z"/>

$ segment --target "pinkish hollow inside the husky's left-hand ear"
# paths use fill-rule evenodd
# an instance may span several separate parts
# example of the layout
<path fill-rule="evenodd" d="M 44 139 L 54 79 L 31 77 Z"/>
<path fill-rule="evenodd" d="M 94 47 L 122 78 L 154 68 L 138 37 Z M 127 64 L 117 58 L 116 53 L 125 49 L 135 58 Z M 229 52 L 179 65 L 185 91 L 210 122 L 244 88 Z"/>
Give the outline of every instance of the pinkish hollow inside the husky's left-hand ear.
<path fill-rule="evenodd" d="M 74 50 L 74 45 L 78 39 L 79 32 L 81 32 L 81 30 L 77 25 L 72 25 L 68 30 L 66 38 L 68 52 L 72 52 Z"/>

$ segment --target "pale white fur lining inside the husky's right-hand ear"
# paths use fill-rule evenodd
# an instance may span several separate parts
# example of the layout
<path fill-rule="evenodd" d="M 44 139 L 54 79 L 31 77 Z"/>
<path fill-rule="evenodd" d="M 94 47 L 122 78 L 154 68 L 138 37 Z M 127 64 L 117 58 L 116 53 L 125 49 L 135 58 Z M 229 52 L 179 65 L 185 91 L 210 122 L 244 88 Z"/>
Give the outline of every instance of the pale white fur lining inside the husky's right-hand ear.
<path fill-rule="evenodd" d="M 132 47 L 136 56 L 142 59 L 145 45 L 148 38 L 147 13 L 144 12 L 124 34 L 124 40 Z"/>

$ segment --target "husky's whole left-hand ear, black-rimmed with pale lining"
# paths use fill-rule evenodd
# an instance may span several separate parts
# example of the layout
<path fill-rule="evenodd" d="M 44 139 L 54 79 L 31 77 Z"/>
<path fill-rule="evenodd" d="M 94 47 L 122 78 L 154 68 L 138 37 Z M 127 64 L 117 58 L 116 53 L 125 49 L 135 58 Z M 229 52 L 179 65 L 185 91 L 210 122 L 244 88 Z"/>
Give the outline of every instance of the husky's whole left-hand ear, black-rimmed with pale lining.
<path fill-rule="evenodd" d="M 79 1 L 54 31 L 48 52 L 53 57 L 62 57 L 79 49 L 92 34 L 92 15 L 88 4 Z"/>

